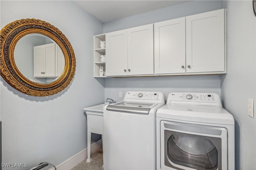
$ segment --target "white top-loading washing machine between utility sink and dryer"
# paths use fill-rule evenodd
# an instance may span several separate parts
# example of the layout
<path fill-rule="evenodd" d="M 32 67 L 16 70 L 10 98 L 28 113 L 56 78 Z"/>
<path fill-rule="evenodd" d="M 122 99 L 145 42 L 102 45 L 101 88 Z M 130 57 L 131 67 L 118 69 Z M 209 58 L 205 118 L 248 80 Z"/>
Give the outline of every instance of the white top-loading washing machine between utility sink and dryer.
<path fill-rule="evenodd" d="M 161 92 L 126 92 L 104 107 L 104 170 L 156 169 L 156 110 L 164 104 Z"/>

